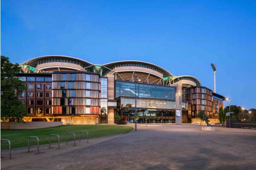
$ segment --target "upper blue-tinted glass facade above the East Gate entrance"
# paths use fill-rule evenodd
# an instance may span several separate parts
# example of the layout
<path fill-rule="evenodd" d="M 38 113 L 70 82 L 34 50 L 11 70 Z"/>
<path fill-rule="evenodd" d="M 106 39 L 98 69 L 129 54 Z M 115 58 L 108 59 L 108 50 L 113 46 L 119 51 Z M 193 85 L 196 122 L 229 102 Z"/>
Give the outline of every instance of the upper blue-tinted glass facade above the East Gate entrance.
<path fill-rule="evenodd" d="M 135 83 L 116 81 L 115 97 L 135 97 Z M 175 100 L 175 87 L 137 83 L 138 98 Z"/>

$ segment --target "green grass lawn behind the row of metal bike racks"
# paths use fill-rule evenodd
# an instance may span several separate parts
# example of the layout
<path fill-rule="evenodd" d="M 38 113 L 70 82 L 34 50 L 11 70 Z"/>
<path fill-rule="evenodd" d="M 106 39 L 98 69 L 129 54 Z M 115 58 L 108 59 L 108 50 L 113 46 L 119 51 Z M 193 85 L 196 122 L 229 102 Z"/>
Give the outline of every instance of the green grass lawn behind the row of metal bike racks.
<path fill-rule="evenodd" d="M 9 139 L 12 143 L 12 148 L 27 147 L 29 136 L 38 136 L 39 144 L 48 144 L 49 134 L 58 134 L 61 142 L 65 141 L 67 132 L 76 133 L 76 140 L 79 140 L 79 131 L 86 130 L 89 133 L 89 138 L 116 135 L 128 133 L 133 130 L 130 126 L 114 126 L 114 125 L 62 125 L 57 127 L 47 127 L 41 129 L 1 129 L 1 139 Z M 85 133 L 81 133 L 81 139 L 86 138 Z M 72 136 L 69 136 L 69 140 Z M 56 136 L 51 137 L 51 143 L 58 142 Z M 7 142 L 2 142 L 1 150 L 7 149 Z M 31 139 L 31 146 L 36 145 L 36 139 Z"/>

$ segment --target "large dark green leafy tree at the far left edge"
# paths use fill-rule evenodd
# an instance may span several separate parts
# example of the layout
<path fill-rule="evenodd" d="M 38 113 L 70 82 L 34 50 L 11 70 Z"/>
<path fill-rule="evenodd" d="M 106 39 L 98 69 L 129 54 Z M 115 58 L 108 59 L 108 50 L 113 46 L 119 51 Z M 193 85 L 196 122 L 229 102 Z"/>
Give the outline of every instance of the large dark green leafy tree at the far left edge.
<path fill-rule="evenodd" d="M 1 120 L 20 122 L 26 116 L 26 106 L 18 96 L 26 90 L 25 82 L 17 77 L 19 64 L 13 64 L 8 57 L 1 56 Z"/>

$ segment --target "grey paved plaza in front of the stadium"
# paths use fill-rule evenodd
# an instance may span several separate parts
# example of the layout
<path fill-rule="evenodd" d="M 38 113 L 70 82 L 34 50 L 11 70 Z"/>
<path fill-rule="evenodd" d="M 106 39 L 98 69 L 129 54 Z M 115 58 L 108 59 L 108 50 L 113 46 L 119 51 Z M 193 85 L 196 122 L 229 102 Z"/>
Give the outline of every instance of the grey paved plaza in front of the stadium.
<path fill-rule="evenodd" d="M 32 153 L 3 152 L 2 170 L 255 170 L 256 130 L 199 125 L 138 125 L 137 132 Z"/>

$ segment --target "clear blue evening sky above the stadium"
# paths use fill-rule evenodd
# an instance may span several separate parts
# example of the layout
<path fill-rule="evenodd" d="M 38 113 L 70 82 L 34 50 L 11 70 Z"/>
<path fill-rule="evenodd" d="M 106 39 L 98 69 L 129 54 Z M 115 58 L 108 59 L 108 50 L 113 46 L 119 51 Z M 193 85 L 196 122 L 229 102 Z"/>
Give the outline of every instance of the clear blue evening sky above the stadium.
<path fill-rule="evenodd" d="M 1 55 L 136 59 L 256 108 L 256 1 L 1 0 Z M 228 103 L 225 102 L 225 105 Z"/>

